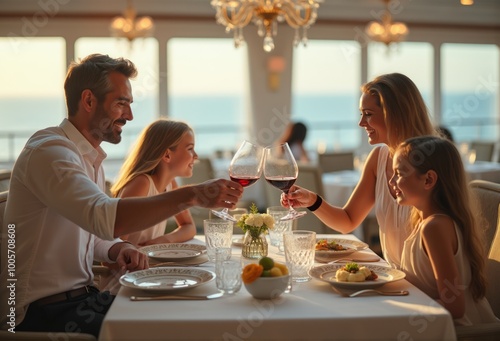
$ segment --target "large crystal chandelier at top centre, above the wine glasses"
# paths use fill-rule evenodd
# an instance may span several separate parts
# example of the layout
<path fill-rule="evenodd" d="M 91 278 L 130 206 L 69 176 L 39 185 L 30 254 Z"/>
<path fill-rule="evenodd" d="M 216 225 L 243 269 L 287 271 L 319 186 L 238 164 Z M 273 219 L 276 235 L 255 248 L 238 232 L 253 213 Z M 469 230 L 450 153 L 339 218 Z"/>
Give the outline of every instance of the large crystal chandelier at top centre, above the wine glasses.
<path fill-rule="evenodd" d="M 307 29 L 317 18 L 319 3 L 323 0 L 212 0 L 217 10 L 218 24 L 226 26 L 226 32 L 233 31 L 234 46 L 241 46 L 243 27 L 252 21 L 257 33 L 264 37 L 266 52 L 274 50 L 273 37 L 278 33 L 278 23 L 286 21 L 295 29 L 294 46 L 307 43 Z M 302 31 L 302 33 L 300 32 Z"/>

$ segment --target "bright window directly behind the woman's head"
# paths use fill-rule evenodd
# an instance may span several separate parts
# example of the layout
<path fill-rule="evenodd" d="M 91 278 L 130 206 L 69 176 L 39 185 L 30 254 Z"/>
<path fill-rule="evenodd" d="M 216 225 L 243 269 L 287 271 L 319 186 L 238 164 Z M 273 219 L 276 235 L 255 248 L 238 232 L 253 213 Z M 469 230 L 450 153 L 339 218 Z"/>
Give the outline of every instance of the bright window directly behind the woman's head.
<path fill-rule="evenodd" d="M 368 45 L 368 79 L 398 72 L 408 76 L 418 87 L 431 116 L 434 106 L 434 58 L 429 43 L 402 42 L 387 47 L 382 43 Z"/>

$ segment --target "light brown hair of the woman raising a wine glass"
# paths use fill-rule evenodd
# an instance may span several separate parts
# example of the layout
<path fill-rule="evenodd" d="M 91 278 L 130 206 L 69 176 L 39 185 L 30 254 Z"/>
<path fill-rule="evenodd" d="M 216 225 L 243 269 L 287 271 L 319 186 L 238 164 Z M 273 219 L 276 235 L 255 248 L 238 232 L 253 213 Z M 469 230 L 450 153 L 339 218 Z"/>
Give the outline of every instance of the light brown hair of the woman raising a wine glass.
<path fill-rule="evenodd" d="M 407 138 L 438 136 L 417 86 L 407 76 L 389 73 L 364 84 L 361 91 L 375 96 L 384 113 L 391 155 Z"/>

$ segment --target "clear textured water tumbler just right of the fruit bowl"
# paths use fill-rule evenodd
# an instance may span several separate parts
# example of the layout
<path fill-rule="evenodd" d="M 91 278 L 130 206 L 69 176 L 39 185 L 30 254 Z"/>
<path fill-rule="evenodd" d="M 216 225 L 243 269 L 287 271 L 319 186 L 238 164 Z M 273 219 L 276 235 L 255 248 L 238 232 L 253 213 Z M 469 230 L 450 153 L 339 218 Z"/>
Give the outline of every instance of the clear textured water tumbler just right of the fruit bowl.
<path fill-rule="evenodd" d="M 309 270 L 314 265 L 316 232 L 296 230 L 283 233 L 286 265 L 294 282 L 307 282 L 311 279 Z"/>

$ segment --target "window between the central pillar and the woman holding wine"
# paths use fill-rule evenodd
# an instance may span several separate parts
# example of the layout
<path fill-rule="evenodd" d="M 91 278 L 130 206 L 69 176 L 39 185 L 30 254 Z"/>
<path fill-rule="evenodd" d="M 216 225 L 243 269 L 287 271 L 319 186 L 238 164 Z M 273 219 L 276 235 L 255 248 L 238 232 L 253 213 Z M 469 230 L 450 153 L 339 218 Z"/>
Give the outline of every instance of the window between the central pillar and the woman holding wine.
<path fill-rule="evenodd" d="M 294 50 L 291 117 L 308 127 L 307 149 L 359 146 L 360 70 L 354 41 L 311 40 Z"/>

